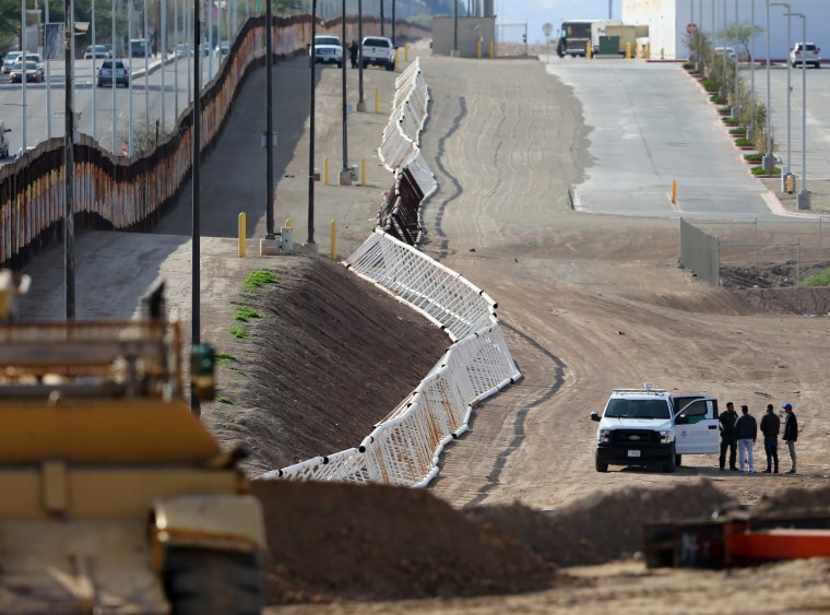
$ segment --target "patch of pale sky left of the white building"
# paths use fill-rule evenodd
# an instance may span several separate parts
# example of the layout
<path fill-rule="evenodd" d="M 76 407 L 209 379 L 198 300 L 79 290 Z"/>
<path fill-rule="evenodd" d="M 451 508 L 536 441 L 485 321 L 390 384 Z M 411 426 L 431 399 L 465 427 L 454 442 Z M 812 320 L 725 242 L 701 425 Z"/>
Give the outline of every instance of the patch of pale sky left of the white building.
<path fill-rule="evenodd" d="M 610 0 L 612 19 L 618 20 L 621 0 Z M 495 0 L 497 24 L 527 24 L 527 42 L 544 43 L 542 26 L 554 26 L 554 36 L 565 20 L 604 20 L 608 17 L 608 0 Z M 499 33 L 506 40 L 519 40 L 523 28 L 505 27 Z"/>

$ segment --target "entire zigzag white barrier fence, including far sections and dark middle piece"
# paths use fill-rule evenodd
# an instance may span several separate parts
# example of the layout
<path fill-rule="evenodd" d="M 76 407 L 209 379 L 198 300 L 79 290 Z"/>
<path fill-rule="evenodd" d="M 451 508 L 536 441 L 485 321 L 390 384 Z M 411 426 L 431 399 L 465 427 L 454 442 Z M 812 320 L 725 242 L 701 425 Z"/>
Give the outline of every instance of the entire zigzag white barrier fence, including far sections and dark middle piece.
<path fill-rule="evenodd" d="M 387 168 L 401 166 L 392 168 L 395 186 L 381 205 L 378 228 L 348 257 L 347 267 L 406 301 L 454 343 L 358 447 L 262 478 L 426 486 L 438 473 L 443 447 L 466 430 L 473 407 L 521 378 L 501 335 L 496 301 L 415 247 L 420 204 L 437 190 L 418 147 L 429 97 L 417 59 L 395 85 L 378 151 Z"/>

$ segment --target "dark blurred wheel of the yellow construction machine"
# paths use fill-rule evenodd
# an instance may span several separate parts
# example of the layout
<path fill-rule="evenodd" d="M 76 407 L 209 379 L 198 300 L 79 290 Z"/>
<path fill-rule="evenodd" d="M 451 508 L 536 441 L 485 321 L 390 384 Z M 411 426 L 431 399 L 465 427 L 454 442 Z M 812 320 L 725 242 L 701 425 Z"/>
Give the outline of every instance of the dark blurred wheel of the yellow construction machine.
<path fill-rule="evenodd" d="M 256 554 L 171 548 L 164 586 L 173 615 L 257 615 L 264 606 Z"/>

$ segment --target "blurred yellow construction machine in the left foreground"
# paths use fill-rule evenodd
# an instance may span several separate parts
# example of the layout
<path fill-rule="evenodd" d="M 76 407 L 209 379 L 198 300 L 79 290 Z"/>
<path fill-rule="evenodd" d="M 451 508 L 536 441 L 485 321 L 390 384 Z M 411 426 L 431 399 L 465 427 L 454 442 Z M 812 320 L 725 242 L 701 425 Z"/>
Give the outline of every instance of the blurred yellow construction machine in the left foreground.
<path fill-rule="evenodd" d="M 144 320 L 27 323 L 28 284 L 0 271 L 0 613 L 260 613 L 262 510 L 186 402 L 161 295 Z"/>

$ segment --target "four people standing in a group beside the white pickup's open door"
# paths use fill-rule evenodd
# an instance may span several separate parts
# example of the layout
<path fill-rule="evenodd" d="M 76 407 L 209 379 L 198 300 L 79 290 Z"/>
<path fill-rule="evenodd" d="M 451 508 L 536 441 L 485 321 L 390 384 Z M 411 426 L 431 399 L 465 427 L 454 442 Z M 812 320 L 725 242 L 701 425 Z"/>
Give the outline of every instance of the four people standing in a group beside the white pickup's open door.
<path fill-rule="evenodd" d="M 795 474 L 795 442 L 798 440 L 798 421 L 793 412 L 792 404 L 781 406 L 785 413 L 784 433 L 781 439 L 786 442 L 790 451 L 792 466 L 784 474 Z M 749 406 L 740 406 L 740 416 L 735 412 L 732 402 L 726 404 L 726 412 L 719 417 L 721 424 L 721 470 L 726 470 L 726 450 L 730 451 L 730 470 L 744 472 L 745 462 L 748 472 L 755 472 L 752 461 L 752 448 L 758 439 L 758 423 L 749 414 Z M 763 435 L 763 451 L 767 453 L 767 474 L 779 473 L 778 438 L 781 433 L 781 418 L 775 414 L 772 404 L 767 404 L 767 413 L 761 418 L 761 434 Z M 737 448 L 736 456 L 735 449 Z M 739 457 L 740 468 L 736 465 L 736 457 Z"/>

